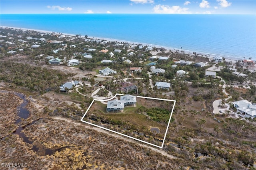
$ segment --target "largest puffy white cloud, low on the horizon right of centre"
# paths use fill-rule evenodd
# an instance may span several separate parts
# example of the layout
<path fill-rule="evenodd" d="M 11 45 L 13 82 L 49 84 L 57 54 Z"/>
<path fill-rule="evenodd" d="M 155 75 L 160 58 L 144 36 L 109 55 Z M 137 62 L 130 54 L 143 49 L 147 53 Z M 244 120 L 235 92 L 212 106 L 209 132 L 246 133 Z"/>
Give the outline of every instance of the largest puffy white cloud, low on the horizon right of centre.
<path fill-rule="evenodd" d="M 180 8 L 180 6 L 156 5 L 153 9 L 157 14 L 191 14 L 188 8 Z"/>

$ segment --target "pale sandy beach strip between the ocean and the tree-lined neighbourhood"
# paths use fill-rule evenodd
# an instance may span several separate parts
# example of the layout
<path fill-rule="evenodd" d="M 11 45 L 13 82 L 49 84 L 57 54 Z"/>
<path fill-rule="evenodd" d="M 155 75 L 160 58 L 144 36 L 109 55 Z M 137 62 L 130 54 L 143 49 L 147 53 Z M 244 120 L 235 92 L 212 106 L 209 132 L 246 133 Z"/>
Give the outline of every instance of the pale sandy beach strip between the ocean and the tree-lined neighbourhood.
<path fill-rule="evenodd" d="M 37 30 L 37 29 L 31 29 L 31 28 L 18 28 L 18 27 L 9 27 L 9 26 L 1 26 L 1 28 L 11 28 L 11 29 L 16 29 L 16 30 L 26 30 L 26 31 L 36 31 L 36 32 L 41 32 L 41 33 L 58 34 L 58 32 L 53 32 L 53 31 L 48 31 L 48 30 Z M 59 35 L 76 37 L 75 34 L 68 34 L 68 33 L 60 33 Z M 166 47 L 163 45 L 156 45 L 156 44 L 150 44 L 150 43 L 131 42 L 131 41 L 127 41 L 127 40 L 117 40 L 114 38 L 101 38 L 101 37 L 94 37 L 94 36 L 88 36 L 88 38 L 89 39 L 106 40 L 106 41 L 110 41 L 110 42 L 130 43 L 130 44 L 135 44 L 135 45 L 142 44 L 142 45 L 158 47 L 158 48 L 164 47 L 167 50 L 174 51 L 173 47 Z M 197 55 L 202 56 L 202 57 L 208 57 L 209 59 L 212 59 L 216 56 L 220 56 L 220 57 L 224 57 L 225 61 L 228 61 L 228 62 L 229 61 L 236 62 L 238 60 L 243 60 L 243 59 L 239 59 L 237 57 L 230 57 L 230 56 L 226 56 L 226 55 L 212 54 L 212 53 L 206 53 L 206 52 L 200 52 L 200 51 L 198 52 L 198 51 L 179 49 L 179 48 L 175 48 L 175 51 L 184 51 L 184 53 L 186 53 L 188 55 L 194 55 L 193 52 L 196 52 Z"/>

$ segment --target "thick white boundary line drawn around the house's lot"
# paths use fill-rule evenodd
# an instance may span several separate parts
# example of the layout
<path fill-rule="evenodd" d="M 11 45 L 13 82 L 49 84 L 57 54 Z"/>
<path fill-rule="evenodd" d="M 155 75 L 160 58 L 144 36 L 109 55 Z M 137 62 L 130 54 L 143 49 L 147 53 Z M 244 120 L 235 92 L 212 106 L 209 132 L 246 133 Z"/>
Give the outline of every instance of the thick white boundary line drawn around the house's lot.
<path fill-rule="evenodd" d="M 90 104 L 90 106 L 88 107 L 88 109 L 86 110 L 86 112 L 84 113 L 84 116 L 82 117 L 81 121 L 84 122 L 84 123 L 87 123 L 87 124 L 89 124 L 89 125 L 92 125 L 92 126 L 95 126 L 95 127 L 99 127 L 99 128 L 108 130 L 108 131 L 110 131 L 110 132 L 114 132 L 114 133 L 120 134 L 120 135 L 122 135 L 122 136 L 126 136 L 126 137 L 128 137 L 128 138 L 132 138 L 132 139 L 134 139 L 134 140 L 138 140 L 138 141 L 140 141 L 140 142 L 143 142 L 143 143 L 146 143 L 146 144 L 149 144 L 149 145 L 152 145 L 152 146 L 156 146 L 156 147 L 162 149 L 163 146 L 164 146 L 164 140 L 165 140 L 165 138 L 166 138 L 166 134 L 167 134 L 167 131 L 168 131 L 168 128 L 169 128 L 171 119 L 172 119 L 172 113 L 173 113 L 173 110 L 174 110 L 174 106 L 175 106 L 176 100 L 160 99 L 160 98 L 154 98 L 154 97 L 136 96 L 136 97 L 144 98 L 144 99 L 154 99 L 154 100 L 163 100 L 163 101 L 173 101 L 173 102 L 174 102 L 174 105 L 173 105 L 173 107 L 172 107 L 172 112 L 171 112 L 171 115 L 170 115 L 170 118 L 169 118 L 169 121 L 168 121 L 168 125 L 167 125 L 167 127 L 166 127 L 166 132 L 165 132 L 165 134 L 164 134 L 164 140 L 163 140 L 163 142 L 162 142 L 162 146 L 158 146 L 158 145 L 155 145 L 155 144 L 146 142 L 146 141 L 144 141 L 144 140 L 140 140 L 140 139 L 134 138 L 134 137 L 132 137 L 132 136 L 128 136 L 128 135 L 126 135 L 126 134 L 122 134 L 122 133 L 120 133 L 120 132 L 116 132 L 116 131 L 114 131 L 114 130 L 111 130 L 111 129 L 108 129 L 108 128 L 104 128 L 104 127 L 101 127 L 101 126 L 99 126 L 99 125 L 95 125 L 95 124 L 92 124 L 92 123 L 90 123 L 90 122 L 87 122 L 87 121 L 84 121 L 84 120 L 83 120 L 84 117 L 85 117 L 85 115 L 86 115 L 86 113 L 89 111 L 90 107 L 91 107 L 92 104 L 94 103 L 94 101 L 110 101 L 110 100 L 114 99 L 117 95 L 123 95 L 123 94 L 116 93 L 116 95 L 114 95 L 114 97 L 112 97 L 111 99 L 105 99 L 105 100 L 93 99 L 92 103 Z"/>

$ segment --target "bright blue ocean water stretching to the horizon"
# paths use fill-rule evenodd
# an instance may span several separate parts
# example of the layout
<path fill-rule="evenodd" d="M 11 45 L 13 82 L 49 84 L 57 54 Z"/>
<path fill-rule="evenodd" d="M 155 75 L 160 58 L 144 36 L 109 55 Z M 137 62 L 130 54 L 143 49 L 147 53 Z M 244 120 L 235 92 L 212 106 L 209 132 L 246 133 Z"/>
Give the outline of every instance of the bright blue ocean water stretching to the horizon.
<path fill-rule="evenodd" d="M 0 26 L 110 38 L 256 60 L 255 15 L 0 14 Z"/>

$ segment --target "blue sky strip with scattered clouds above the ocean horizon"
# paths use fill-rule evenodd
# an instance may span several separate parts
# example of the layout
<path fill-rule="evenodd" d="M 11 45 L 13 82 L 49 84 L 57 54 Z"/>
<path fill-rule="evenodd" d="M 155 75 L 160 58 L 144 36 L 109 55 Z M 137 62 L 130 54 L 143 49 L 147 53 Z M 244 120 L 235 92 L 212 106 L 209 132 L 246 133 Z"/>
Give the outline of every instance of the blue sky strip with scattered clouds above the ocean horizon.
<path fill-rule="evenodd" d="M 256 15 L 256 0 L 0 0 L 0 14 Z"/>

